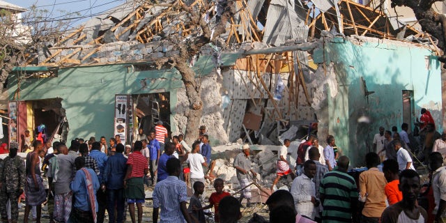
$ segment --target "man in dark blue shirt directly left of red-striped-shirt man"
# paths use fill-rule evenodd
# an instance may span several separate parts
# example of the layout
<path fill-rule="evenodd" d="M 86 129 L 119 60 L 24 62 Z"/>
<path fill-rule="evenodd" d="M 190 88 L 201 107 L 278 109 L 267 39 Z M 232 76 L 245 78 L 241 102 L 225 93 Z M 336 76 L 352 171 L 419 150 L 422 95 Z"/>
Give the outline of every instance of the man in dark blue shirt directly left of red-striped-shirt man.
<path fill-rule="evenodd" d="M 123 155 L 124 145 L 116 146 L 116 153 L 105 164 L 104 180 L 107 187 L 107 212 L 109 222 L 115 222 L 114 204 L 116 203 L 117 222 L 123 222 L 124 216 L 124 176 L 127 171 L 127 158 Z"/>

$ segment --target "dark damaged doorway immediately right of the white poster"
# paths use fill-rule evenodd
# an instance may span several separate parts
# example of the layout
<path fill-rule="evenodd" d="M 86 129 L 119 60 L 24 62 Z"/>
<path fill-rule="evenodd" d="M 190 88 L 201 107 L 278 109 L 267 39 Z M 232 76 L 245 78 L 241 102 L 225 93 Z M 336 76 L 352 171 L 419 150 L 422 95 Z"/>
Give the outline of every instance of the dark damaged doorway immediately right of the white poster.
<path fill-rule="evenodd" d="M 167 131 L 171 132 L 169 92 L 133 95 L 133 101 L 135 135 L 139 128 L 144 130 L 144 134 L 149 134 L 155 130 L 157 121 L 162 121 Z"/>

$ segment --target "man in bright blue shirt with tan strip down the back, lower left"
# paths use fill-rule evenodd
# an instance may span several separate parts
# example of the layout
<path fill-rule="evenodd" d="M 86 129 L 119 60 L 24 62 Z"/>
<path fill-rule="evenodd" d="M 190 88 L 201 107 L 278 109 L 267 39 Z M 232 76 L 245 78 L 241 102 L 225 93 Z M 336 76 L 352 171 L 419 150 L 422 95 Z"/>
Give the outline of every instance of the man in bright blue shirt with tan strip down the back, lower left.
<path fill-rule="evenodd" d="M 96 201 L 96 191 L 100 187 L 98 176 L 93 169 L 85 168 L 85 157 L 77 157 L 75 166 L 77 172 L 70 185 L 73 193 L 73 209 L 70 213 L 70 220 L 72 222 L 94 222 L 96 211 L 98 211 L 98 202 Z"/>

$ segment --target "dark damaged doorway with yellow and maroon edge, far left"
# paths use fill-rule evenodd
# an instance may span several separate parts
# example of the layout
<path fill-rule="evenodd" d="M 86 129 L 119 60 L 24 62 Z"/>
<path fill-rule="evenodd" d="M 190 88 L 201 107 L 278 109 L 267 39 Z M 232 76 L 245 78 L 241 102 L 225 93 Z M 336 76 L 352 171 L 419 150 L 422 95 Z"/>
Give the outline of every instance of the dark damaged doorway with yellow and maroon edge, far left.
<path fill-rule="evenodd" d="M 56 141 L 66 141 L 68 136 L 68 123 L 61 98 L 26 101 L 26 128 L 36 139 L 40 132 L 45 133 L 44 141 L 54 138 Z M 43 130 L 42 126 L 45 125 Z"/>

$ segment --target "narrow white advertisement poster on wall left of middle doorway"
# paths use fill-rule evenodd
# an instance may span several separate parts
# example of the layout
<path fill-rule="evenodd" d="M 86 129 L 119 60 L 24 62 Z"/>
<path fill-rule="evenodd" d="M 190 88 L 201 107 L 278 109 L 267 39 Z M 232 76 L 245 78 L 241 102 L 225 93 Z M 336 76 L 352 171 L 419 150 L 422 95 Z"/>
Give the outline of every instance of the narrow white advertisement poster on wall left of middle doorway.
<path fill-rule="evenodd" d="M 119 134 L 124 144 L 127 136 L 127 116 L 129 110 L 127 99 L 127 95 L 116 95 L 114 104 L 114 135 Z"/>

